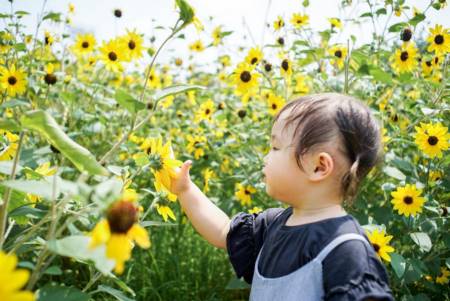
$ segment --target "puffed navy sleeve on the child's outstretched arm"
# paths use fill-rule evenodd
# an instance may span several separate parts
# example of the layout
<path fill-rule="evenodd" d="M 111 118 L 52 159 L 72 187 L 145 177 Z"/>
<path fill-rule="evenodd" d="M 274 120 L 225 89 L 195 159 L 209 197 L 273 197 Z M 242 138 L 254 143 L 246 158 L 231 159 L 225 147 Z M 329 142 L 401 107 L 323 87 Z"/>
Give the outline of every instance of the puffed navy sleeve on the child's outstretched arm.
<path fill-rule="evenodd" d="M 240 212 L 232 217 L 226 242 L 228 257 L 238 278 L 252 282 L 265 231 L 282 211 L 283 208 L 269 208 L 253 214 Z"/>

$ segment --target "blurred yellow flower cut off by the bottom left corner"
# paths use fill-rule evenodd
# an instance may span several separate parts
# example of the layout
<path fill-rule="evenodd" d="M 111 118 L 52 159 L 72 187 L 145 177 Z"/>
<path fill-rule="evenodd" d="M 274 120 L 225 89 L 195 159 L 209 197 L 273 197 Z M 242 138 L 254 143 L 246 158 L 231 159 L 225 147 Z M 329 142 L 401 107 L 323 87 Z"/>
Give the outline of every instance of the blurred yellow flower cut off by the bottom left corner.
<path fill-rule="evenodd" d="M 30 278 L 30 272 L 25 269 L 16 269 L 17 256 L 8 255 L 0 250 L 0 300 L 33 301 L 34 294 L 20 290 Z"/>

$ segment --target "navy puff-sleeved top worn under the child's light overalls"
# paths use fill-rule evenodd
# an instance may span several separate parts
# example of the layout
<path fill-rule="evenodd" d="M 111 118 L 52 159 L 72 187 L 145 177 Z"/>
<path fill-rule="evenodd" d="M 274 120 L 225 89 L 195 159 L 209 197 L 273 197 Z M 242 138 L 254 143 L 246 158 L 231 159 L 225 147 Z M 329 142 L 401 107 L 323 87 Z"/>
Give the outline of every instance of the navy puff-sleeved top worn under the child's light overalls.
<path fill-rule="evenodd" d="M 260 255 L 259 271 L 264 277 L 287 275 L 314 259 L 334 238 L 346 233 L 365 235 L 351 215 L 286 226 L 292 207 L 270 208 L 260 213 L 241 212 L 231 221 L 227 251 L 238 278 L 251 283 L 256 257 L 264 243 L 267 226 L 280 223 L 270 245 Z M 394 300 L 386 268 L 375 250 L 358 240 L 337 246 L 323 261 L 325 300 Z M 300 300 L 301 298 L 299 298 Z"/>

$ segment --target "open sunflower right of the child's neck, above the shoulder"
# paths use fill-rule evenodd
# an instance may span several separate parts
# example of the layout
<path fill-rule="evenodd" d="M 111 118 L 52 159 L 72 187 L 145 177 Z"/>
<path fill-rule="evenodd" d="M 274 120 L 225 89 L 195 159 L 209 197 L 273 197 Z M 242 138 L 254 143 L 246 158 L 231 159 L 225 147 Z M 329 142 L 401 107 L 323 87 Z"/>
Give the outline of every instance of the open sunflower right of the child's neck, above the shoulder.
<path fill-rule="evenodd" d="M 393 199 L 391 203 L 394 205 L 394 210 L 398 210 L 399 214 L 406 217 L 416 216 L 417 213 L 422 212 L 423 203 L 425 199 L 421 197 L 422 189 L 417 189 L 415 185 L 406 184 L 404 187 L 398 187 L 396 191 L 391 192 Z"/>

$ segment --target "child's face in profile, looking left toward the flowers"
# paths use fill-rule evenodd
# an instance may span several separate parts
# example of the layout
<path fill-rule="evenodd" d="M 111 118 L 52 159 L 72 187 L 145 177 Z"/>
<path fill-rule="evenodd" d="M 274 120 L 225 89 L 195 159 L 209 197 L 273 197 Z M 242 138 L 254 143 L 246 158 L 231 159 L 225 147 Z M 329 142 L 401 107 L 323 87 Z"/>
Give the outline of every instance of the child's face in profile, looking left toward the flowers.
<path fill-rule="evenodd" d="M 302 187 L 308 182 L 295 159 L 295 145 L 292 141 L 294 130 L 291 126 L 283 130 L 285 118 L 289 116 L 288 111 L 284 111 L 272 127 L 271 149 L 264 157 L 263 173 L 267 193 L 274 199 L 294 204 Z M 304 160 L 302 165 L 305 170 L 311 168 Z"/>

